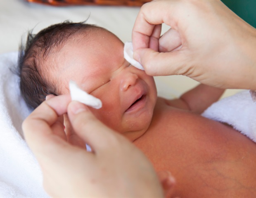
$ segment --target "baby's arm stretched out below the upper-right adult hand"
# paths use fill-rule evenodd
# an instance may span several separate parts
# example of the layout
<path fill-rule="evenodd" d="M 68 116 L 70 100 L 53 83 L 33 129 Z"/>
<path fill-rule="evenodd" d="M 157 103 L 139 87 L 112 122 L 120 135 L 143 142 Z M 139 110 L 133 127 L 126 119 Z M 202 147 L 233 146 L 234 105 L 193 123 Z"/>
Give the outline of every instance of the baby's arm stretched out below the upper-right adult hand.
<path fill-rule="evenodd" d="M 225 90 L 200 84 L 185 92 L 179 99 L 167 101 L 170 106 L 203 113 L 211 104 L 218 101 Z"/>

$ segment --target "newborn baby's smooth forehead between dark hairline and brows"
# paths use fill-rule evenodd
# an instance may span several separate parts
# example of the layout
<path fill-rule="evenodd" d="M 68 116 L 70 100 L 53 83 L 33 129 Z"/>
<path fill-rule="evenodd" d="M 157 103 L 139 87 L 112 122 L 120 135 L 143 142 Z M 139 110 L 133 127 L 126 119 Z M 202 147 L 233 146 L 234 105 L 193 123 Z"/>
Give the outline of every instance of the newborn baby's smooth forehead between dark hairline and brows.
<path fill-rule="evenodd" d="M 123 57 L 123 42 L 104 29 L 96 32 L 75 35 L 57 52 L 57 56 L 52 57 L 55 59 L 52 62 L 57 63 L 53 75 L 65 80 L 65 87 L 68 87 L 69 79 L 76 81 L 78 78 L 80 80 L 76 82 L 79 86 L 88 81 L 96 85 L 104 84 L 109 80 L 105 78 L 109 77 L 108 74 L 124 64 L 129 65 Z"/>

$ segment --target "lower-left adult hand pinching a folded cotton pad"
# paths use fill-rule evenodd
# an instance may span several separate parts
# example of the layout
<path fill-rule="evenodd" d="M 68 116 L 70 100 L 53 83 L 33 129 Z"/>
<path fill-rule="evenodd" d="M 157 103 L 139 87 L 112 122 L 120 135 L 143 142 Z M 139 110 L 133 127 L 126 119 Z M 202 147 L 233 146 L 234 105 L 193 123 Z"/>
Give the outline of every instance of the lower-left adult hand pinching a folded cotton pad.
<path fill-rule="evenodd" d="M 48 99 L 22 125 L 50 196 L 163 197 L 159 180 L 170 193 L 171 175 L 161 172 L 158 179 L 151 163 L 132 143 L 103 125 L 85 105 L 70 101 L 69 95 Z M 64 113 L 92 152 L 66 141 L 59 120 Z"/>

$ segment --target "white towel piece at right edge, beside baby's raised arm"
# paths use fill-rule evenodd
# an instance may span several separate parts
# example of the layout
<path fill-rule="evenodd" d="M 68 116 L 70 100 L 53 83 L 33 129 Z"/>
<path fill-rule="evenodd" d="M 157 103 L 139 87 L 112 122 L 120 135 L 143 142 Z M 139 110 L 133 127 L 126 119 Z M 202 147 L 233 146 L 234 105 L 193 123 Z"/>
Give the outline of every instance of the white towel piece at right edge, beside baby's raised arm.
<path fill-rule="evenodd" d="M 212 104 L 202 115 L 228 123 L 256 142 L 256 103 L 249 91 L 239 92 Z"/>

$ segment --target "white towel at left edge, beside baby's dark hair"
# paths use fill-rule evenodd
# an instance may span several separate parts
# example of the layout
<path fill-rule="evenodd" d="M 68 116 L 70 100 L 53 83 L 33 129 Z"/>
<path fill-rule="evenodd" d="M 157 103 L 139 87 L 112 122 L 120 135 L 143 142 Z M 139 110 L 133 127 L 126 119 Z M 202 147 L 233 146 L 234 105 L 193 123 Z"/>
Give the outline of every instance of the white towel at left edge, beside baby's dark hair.
<path fill-rule="evenodd" d="M 30 111 L 21 98 L 19 78 L 10 70 L 16 68 L 17 57 L 17 52 L 0 55 L 0 198 L 49 197 L 21 131 Z"/>

